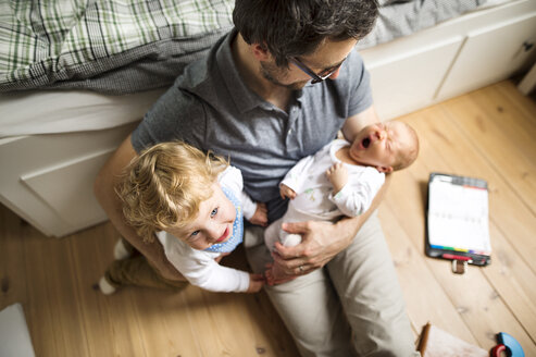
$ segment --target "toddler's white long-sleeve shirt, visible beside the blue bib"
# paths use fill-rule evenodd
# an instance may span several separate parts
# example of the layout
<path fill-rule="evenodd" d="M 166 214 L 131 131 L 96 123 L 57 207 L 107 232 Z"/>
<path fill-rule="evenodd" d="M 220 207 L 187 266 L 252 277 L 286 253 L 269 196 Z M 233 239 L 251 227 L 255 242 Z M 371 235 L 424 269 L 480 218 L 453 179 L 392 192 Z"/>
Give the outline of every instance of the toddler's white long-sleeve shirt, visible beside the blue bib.
<path fill-rule="evenodd" d="M 241 200 L 241 210 L 250 219 L 257 204 L 242 192 L 240 170 L 228 167 L 220 174 L 217 181 Z M 212 292 L 246 292 L 249 287 L 249 273 L 220 266 L 214 259 L 221 253 L 197 250 L 167 232 L 157 234 L 164 247 L 170 262 L 192 284 Z"/>

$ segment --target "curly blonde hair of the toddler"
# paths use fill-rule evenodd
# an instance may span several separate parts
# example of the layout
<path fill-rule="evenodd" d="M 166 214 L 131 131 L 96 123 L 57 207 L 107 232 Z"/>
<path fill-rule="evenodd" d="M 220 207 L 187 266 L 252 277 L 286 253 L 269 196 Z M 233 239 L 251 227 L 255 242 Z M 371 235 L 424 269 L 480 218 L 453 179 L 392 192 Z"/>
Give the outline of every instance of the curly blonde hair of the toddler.
<path fill-rule="evenodd" d="M 157 144 L 134 158 L 115 192 L 126 222 L 144 242 L 170 227 L 180 229 L 197 217 L 212 196 L 212 184 L 228 160 L 182 141 Z"/>

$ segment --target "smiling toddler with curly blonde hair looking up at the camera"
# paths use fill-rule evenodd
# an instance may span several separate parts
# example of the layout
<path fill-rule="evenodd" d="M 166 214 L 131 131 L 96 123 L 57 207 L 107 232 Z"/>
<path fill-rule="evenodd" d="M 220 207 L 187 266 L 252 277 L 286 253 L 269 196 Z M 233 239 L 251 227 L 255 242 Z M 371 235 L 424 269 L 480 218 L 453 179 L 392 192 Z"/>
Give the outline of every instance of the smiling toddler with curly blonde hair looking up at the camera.
<path fill-rule="evenodd" d="M 226 160 L 185 143 L 158 144 L 130 162 L 116 190 L 127 222 L 144 241 L 157 237 L 170 262 L 192 285 L 213 292 L 262 288 L 262 274 L 217 262 L 242 242 L 242 216 L 254 224 L 267 222 L 265 205 L 242 192 L 240 171 Z M 103 292 L 103 285 L 117 284 L 110 274 L 104 278 Z"/>

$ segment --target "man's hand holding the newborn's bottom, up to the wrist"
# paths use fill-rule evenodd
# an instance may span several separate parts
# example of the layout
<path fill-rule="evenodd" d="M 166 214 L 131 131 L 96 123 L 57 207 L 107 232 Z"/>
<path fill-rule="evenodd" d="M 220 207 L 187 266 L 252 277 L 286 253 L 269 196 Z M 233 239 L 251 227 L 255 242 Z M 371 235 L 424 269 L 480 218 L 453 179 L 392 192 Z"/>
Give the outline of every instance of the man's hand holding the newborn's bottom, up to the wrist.
<path fill-rule="evenodd" d="M 346 220 L 344 224 L 322 221 L 283 223 L 288 233 L 301 234 L 302 243 L 294 247 L 285 247 L 275 243 L 272 253 L 274 264 L 286 275 L 303 275 L 324 267 L 339 251 L 350 245 L 357 232 L 358 219 Z M 353 227 L 353 229 L 352 229 Z"/>

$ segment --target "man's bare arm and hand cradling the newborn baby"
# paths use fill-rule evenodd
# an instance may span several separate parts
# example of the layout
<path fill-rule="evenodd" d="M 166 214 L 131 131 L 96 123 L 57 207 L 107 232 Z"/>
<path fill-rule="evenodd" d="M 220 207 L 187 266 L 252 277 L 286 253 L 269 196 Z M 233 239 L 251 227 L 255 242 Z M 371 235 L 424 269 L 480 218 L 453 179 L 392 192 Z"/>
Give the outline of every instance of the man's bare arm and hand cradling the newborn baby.
<path fill-rule="evenodd" d="M 346 120 L 341 130 L 342 135 L 351 143 L 363 127 L 377 122 L 379 119 L 376 110 L 374 106 L 371 106 Z M 386 175 L 385 183 L 374 197 L 371 207 L 359 217 L 344 218 L 335 224 L 321 221 L 283 224 L 285 231 L 301 234 L 303 239 L 295 247 L 285 247 L 277 242 L 275 244 L 276 254 L 273 254 L 275 263 L 279 264 L 289 275 L 307 274 L 325 266 L 350 245 L 363 223 L 379 206 L 389 181 L 390 175 Z"/>

